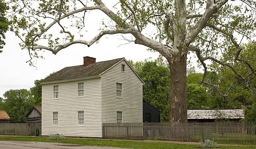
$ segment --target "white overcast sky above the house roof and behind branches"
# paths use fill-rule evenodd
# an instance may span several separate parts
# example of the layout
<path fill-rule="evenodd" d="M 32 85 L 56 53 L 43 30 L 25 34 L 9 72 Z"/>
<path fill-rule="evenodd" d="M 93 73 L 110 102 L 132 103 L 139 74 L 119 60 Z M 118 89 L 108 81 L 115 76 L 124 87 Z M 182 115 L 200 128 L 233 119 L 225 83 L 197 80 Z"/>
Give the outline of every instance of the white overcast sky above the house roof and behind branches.
<path fill-rule="evenodd" d="M 108 1 L 106 4 L 108 8 L 112 8 L 114 5 L 115 2 L 113 1 Z M 90 40 L 99 33 L 102 19 L 107 22 L 110 20 L 99 10 L 91 11 L 85 16 L 85 19 L 87 20 L 85 23 L 87 32 L 84 32 L 83 40 Z M 51 22 L 48 21 L 48 24 Z M 69 20 L 62 23 L 68 24 Z M 59 33 L 60 29 L 58 25 L 55 25 L 48 33 L 55 35 L 55 33 Z M 153 30 L 152 28 L 147 28 L 142 33 L 148 35 Z M 77 31 L 73 33 L 77 33 Z M 75 36 L 75 39 L 79 39 L 79 36 Z M 7 32 L 6 45 L 3 48 L 3 52 L 0 53 L 0 97 L 3 97 L 3 94 L 10 89 L 30 89 L 30 87 L 34 86 L 34 80 L 43 79 L 50 73 L 59 71 L 64 67 L 81 65 L 83 64 L 84 56 L 95 57 L 96 62 L 121 57 L 136 62 L 149 57 L 154 60 L 159 55 L 158 52 L 150 52 L 147 47 L 134 44 L 134 42 L 125 44 L 127 41 L 121 39 L 120 35 L 108 35 L 102 37 L 98 44 L 93 44 L 90 47 L 83 44 L 74 44 L 61 50 L 56 55 L 50 51 L 45 51 L 43 53 L 45 59 L 34 59 L 36 67 L 33 67 L 26 63 L 30 58 L 27 50 L 21 50 L 19 46 L 20 39 L 12 32 Z M 47 46 L 45 43 L 42 44 Z"/>

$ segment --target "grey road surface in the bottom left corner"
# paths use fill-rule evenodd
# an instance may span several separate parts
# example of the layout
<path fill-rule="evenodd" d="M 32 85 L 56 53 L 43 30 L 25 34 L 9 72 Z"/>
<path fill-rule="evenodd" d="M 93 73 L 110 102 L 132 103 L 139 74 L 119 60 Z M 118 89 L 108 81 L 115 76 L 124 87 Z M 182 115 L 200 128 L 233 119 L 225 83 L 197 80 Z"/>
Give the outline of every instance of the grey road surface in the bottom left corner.
<path fill-rule="evenodd" d="M 23 141 L 0 141 L 0 149 L 123 149 L 116 147 L 80 146 L 72 144 L 23 142 Z"/>

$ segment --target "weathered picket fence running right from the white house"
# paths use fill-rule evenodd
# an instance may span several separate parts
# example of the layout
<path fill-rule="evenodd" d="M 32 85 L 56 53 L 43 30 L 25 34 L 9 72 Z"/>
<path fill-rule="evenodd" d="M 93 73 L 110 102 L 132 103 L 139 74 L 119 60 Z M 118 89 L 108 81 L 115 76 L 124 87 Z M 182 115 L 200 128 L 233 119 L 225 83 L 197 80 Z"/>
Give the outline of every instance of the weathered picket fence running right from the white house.
<path fill-rule="evenodd" d="M 253 122 L 103 123 L 102 137 L 189 142 L 214 139 L 219 143 L 255 144 L 256 126 Z"/>

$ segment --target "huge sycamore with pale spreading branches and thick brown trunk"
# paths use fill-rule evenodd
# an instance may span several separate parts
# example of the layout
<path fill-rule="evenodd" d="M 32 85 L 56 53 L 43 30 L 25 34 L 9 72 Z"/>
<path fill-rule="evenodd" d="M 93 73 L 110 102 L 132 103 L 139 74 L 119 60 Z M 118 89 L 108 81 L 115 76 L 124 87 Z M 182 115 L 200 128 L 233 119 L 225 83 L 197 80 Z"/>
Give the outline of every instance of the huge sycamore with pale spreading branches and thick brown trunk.
<path fill-rule="evenodd" d="M 122 34 L 129 42 L 158 51 L 170 66 L 170 122 L 187 122 L 189 53 L 196 53 L 205 71 L 201 83 L 208 83 L 204 81 L 206 61 L 214 61 L 229 67 L 243 80 L 245 88 L 251 87 L 247 79 L 255 76 L 255 68 L 243 60 L 240 53 L 243 50 L 241 44 L 250 42 L 255 36 L 254 0 L 120 0 L 109 8 L 105 3 L 108 1 L 12 0 L 10 29 L 21 39 L 20 45 L 28 50 L 31 59 L 40 57 L 40 50 L 57 54 L 73 44 L 90 47 L 102 36 L 113 34 Z M 111 21 L 103 20 L 104 26 L 99 27 L 101 31 L 91 40 L 84 40 L 85 22 L 92 21 L 86 20 L 85 14 L 90 15 L 88 12 L 96 10 Z M 44 21 L 49 19 L 52 21 Z M 49 32 L 54 25 L 58 26 L 59 34 Z M 77 31 L 71 27 L 76 27 Z M 81 36 L 74 36 L 74 32 Z M 132 38 L 124 34 L 131 34 Z M 235 49 L 234 53 L 229 53 L 230 49 Z M 229 59 L 221 61 L 220 57 L 227 53 Z M 238 62 L 247 66 L 248 74 L 240 74 L 234 69 Z"/>

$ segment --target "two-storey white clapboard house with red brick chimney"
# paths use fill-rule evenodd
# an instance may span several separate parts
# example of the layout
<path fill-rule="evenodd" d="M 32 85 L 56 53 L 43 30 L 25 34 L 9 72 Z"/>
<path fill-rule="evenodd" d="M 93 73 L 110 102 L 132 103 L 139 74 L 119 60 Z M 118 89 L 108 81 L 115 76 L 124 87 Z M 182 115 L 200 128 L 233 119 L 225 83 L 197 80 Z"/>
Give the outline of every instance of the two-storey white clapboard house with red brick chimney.
<path fill-rule="evenodd" d="M 142 122 L 145 84 L 125 58 L 65 67 L 42 84 L 42 136 L 102 137 L 104 122 Z"/>

